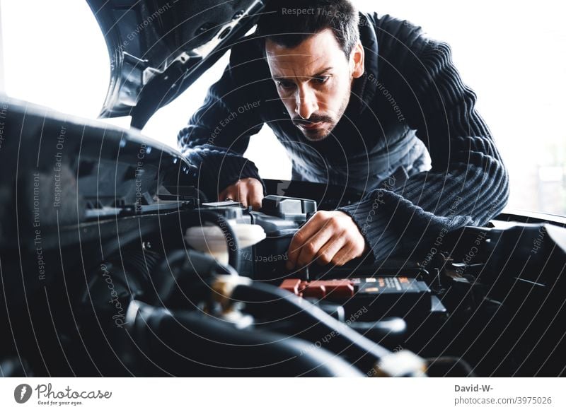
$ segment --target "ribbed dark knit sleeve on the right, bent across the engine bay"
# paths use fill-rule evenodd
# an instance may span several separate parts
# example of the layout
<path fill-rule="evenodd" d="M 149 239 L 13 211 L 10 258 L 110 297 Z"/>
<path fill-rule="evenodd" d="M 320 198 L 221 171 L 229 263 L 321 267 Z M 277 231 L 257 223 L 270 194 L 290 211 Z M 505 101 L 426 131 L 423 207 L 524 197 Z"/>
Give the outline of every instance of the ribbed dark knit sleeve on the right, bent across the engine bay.
<path fill-rule="evenodd" d="M 390 179 L 359 203 L 340 208 L 357 223 L 376 259 L 432 240 L 440 247 L 449 231 L 487 223 L 509 196 L 507 170 L 449 45 L 427 40 L 400 69 L 405 82 L 390 91 L 427 146 L 432 169 L 403 185 Z"/>

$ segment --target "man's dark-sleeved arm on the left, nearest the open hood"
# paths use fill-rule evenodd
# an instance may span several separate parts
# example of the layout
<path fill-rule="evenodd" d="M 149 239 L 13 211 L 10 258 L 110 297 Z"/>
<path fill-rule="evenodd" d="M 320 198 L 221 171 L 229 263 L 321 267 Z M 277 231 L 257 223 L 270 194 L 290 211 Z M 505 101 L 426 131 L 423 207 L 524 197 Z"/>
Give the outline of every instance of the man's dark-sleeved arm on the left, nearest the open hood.
<path fill-rule="evenodd" d="M 261 182 L 258 168 L 243 157 L 250 136 L 263 125 L 261 97 L 248 76 L 254 63 L 242 59 L 243 54 L 233 50 L 222 77 L 209 88 L 202 107 L 178 134 L 178 146 L 187 160 L 199 167 L 198 186 L 210 199 L 218 194 L 233 196 L 225 189 L 241 179 Z"/>

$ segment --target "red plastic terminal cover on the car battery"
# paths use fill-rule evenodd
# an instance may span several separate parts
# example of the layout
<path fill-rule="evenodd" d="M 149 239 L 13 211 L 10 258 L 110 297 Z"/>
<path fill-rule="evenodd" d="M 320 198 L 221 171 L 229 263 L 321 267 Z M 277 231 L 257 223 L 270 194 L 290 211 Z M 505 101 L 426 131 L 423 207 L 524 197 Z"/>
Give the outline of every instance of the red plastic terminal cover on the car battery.
<path fill-rule="evenodd" d="M 354 282 L 350 279 L 332 279 L 329 281 L 302 281 L 285 279 L 279 286 L 284 290 L 304 298 L 350 298 L 354 295 Z"/>

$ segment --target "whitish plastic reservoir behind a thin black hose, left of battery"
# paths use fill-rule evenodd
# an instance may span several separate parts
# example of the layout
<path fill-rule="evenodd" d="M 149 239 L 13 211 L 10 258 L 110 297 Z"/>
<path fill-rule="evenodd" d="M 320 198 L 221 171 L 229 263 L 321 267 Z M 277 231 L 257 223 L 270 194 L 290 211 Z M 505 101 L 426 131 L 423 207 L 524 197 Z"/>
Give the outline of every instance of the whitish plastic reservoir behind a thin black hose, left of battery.
<path fill-rule="evenodd" d="M 228 220 L 230 227 L 238 238 L 240 248 L 249 247 L 265 239 L 265 231 L 260 225 L 236 223 Z M 194 249 L 212 255 L 221 264 L 228 264 L 229 248 L 236 247 L 235 242 L 226 239 L 221 228 L 216 225 L 194 226 L 187 229 L 185 240 Z"/>

